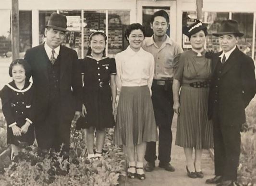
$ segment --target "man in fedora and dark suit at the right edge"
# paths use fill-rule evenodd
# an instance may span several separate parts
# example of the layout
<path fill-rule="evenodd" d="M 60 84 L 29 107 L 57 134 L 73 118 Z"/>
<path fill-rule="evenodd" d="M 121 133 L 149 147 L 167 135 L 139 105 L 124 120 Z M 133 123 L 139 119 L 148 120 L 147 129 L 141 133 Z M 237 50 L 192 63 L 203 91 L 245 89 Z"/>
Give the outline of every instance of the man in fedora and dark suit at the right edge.
<path fill-rule="evenodd" d="M 218 33 L 221 52 L 212 58 L 209 117 L 213 120 L 215 177 L 208 184 L 233 186 L 237 179 L 244 109 L 256 93 L 254 61 L 236 46 L 238 22 L 221 22 Z"/>

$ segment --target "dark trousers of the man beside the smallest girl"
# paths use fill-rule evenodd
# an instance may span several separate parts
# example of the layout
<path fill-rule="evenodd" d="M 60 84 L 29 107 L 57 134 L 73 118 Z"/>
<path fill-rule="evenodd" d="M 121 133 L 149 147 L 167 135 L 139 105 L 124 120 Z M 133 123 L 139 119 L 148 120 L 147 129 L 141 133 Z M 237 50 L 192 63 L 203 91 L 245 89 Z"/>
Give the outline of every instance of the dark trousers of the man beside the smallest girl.
<path fill-rule="evenodd" d="M 55 98 L 49 101 L 49 108 L 45 120 L 36 125 L 38 147 L 44 150 L 69 152 L 71 121 L 64 121 L 61 117 L 60 101 Z"/>

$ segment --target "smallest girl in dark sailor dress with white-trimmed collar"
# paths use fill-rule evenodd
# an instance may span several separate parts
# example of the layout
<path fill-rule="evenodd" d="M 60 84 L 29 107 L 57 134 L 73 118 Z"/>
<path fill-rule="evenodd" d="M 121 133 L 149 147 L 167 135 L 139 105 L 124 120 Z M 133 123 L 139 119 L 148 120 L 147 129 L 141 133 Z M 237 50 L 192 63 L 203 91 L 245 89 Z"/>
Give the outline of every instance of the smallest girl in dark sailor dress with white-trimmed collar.
<path fill-rule="evenodd" d="M 11 144 L 12 157 L 20 152 L 21 142 L 32 145 L 35 139 L 32 125 L 33 86 L 26 78 L 28 73 L 30 66 L 26 61 L 14 60 L 9 67 L 13 81 L 0 90 L 2 110 L 7 121 L 7 143 Z"/>

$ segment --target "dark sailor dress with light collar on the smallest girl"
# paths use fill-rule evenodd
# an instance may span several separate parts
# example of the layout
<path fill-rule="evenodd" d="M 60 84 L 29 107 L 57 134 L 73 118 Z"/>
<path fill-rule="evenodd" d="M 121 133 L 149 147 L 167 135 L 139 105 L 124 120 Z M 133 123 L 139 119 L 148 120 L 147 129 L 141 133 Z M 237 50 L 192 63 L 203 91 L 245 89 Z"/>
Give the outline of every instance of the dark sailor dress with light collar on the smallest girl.
<path fill-rule="evenodd" d="M 3 115 L 7 121 L 7 143 L 18 145 L 18 141 L 27 142 L 32 145 L 35 140 L 34 123 L 28 128 L 28 131 L 22 136 L 14 136 L 10 125 L 16 123 L 16 126 L 22 127 L 26 120 L 33 121 L 32 102 L 33 102 L 32 83 L 26 82 L 23 89 L 18 89 L 14 81 L 5 85 L 0 91 L 2 101 Z"/>

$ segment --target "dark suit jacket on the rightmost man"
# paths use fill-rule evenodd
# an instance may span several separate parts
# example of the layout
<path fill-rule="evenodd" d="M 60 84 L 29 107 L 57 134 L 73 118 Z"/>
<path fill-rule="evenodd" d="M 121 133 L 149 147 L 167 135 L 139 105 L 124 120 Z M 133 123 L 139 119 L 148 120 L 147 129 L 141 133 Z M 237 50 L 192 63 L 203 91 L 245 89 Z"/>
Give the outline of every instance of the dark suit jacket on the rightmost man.
<path fill-rule="evenodd" d="M 209 94 L 209 117 L 214 119 L 213 113 L 216 112 L 213 109 L 216 109 L 221 124 L 242 125 L 245 122 L 244 109 L 256 93 L 254 61 L 236 47 L 225 62 L 218 80 L 219 72 L 217 72 L 216 66 L 220 63 L 219 55 L 221 53 L 222 51 L 212 58 L 213 74 Z M 219 91 L 216 91 L 217 84 Z"/>

